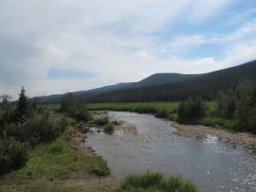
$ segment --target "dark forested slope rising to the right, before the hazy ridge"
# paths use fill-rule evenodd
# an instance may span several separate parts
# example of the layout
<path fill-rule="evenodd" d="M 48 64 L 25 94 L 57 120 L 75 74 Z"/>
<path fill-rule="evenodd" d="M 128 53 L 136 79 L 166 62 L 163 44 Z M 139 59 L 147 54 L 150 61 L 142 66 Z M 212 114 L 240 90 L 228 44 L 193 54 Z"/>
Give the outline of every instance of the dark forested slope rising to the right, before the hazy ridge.
<path fill-rule="evenodd" d="M 86 99 L 89 102 L 154 102 L 181 101 L 189 96 L 200 95 L 204 99 L 212 100 L 218 96 L 219 90 L 233 88 L 245 79 L 256 79 L 256 60 L 180 82 L 113 90 Z"/>

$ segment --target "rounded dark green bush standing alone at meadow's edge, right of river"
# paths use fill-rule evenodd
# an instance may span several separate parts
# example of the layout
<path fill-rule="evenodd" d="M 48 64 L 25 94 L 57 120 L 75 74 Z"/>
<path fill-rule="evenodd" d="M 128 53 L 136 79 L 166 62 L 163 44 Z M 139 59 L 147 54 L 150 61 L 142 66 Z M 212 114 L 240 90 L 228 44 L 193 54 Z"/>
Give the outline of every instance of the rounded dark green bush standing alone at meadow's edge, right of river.
<path fill-rule="evenodd" d="M 193 96 L 185 102 L 181 102 L 178 109 L 178 122 L 196 123 L 198 119 L 206 115 L 207 106 L 201 97 Z"/>

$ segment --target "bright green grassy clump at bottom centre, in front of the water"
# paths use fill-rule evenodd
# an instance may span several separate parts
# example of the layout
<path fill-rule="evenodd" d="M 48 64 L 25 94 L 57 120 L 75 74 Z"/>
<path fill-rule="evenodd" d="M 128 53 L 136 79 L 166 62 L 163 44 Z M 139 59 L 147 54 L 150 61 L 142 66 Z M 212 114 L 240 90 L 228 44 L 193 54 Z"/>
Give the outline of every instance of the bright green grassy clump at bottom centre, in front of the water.
<path fill-rule="evenodd" d="M 114 191 L 197 192 L 198 190 L 195 184 L 184 181 L 181 177 L 169 177 L 165 179 L 159 172 L 146 172 L 125 177 L 119 183 L 119 187 L 114 189 Z"/>

